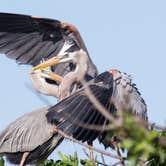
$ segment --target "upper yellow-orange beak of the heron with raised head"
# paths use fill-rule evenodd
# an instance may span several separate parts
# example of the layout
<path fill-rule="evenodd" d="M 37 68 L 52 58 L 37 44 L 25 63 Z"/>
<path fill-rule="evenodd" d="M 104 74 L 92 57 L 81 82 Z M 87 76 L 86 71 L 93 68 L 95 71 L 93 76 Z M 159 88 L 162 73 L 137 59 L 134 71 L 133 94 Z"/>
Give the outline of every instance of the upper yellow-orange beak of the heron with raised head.
<path fill-rule="evenodd" d="M 51 59 L 49 59 L 49 60 L 47 60 L 47 61 L 45 61 L 45 62 L 43 62 L 43 63 L 41 63 L 41 64 L 39 64 L 37 66 L 35 66 L 35 67 L 33 67 L 32 70 L 35 71 L 35 70 L 45 69 L 45 68 L 47 68 L 49 66 L 53 66 L 53 65 L 61 63 L 61 60 L 62 60 L 62 58 L 53 57 L 53 58 L 51 58 Z"/>

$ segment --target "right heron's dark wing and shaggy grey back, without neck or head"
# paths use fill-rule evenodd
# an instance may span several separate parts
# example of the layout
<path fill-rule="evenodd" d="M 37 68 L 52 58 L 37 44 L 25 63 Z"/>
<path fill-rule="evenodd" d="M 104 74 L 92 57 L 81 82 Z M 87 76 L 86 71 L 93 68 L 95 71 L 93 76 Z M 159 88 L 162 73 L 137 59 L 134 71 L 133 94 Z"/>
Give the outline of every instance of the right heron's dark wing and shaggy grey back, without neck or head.
<path fill-rule="evenodd" d="M 111 114 L 120 110 L 129 110 L 141 119 L 147 120 L 146 104 L 136 89 L 135 84 L 124 79 L 130 78 L 127 77 L 125 73 L 116 70 L 116 72 L 118 72 L 118 77 L 120 76 L 117 80 L 116 75 L 112 74 L 113 71 L 114 70 L 101 73 L 94 80 L 91 80 L 88 86 L 90 87 L 92 94 Z M 125 83 L 127 83 L 127 86 L 124 85 Z M 49 108 L 47 117 L 50 122 L 55 122 L 59 129 L 74 136 L 76 139 L 93 141 L 100 135 L 100 132 L 96 133 L 95 130 L 84 129 L 84 127 L 80 127 L 79 124 L 84 124 L 85 127 L 88 125 L 102 126 L 106 124 L 108 119 L 103 116 L 88 99 L 84 92 L 85 88 L 86 87 L 83 87 L 70 96 L 70 98 L 75 96 L 73 97 L 72 103 L 69 104 L 67 98 Z M 130 95 L 132 96 L 131 98 Z M 123 100 L 121 100 L 122 98 Z M 60 111 L 54 111 L 54 109 L 57 110 L 57 108 L 60 109 Z M 88 136 L 85 131 L 89 134 Z M 96 133 L 95 136 L 93 136 L 92 131 Z"/>

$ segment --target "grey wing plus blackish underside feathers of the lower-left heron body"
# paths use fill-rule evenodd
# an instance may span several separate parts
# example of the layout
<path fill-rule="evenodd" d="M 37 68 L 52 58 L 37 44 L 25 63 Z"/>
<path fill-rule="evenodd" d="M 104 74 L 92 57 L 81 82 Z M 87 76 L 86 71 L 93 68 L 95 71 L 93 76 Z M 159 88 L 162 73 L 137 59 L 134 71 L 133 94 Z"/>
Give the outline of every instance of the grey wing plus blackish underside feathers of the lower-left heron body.
<path fill-rule="evenodd" d="M 47 122 L 47 108 L 23 115 L 12 122 L 0 134 L 0 154 L 19 164 L 24 152 L 30 152 L 26 163 L 37 163 L 46 159 L 63 138 L 53 135 L 52 125 Z"/>

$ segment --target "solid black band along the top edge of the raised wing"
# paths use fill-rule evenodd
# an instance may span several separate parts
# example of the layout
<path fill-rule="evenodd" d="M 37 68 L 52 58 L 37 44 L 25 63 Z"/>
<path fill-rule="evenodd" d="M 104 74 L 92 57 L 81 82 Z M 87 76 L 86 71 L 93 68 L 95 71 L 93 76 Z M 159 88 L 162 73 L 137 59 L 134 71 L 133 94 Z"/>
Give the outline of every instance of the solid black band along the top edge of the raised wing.
<path fill-rule="evenodd" d="M 41 32 L 42 30 L 55 30 L 60 27 L 60 21 L 29 16 L 23 14 L 0 13 L 1 32 Z"/>

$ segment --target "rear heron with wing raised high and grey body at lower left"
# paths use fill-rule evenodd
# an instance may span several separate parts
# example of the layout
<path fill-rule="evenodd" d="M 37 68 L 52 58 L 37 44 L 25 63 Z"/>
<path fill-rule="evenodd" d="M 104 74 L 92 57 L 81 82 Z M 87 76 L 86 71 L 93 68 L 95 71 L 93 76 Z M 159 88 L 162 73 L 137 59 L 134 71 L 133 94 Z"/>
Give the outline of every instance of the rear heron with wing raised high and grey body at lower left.
<path fill-rule="evenodd" d="M 78 30 L 73 25 L 47 18 L 0 13 L 0 53 L 16 60 L 18 64 L 28 64 L 35 68 L 36 65 L 51 57 L 56 57 L 64 52 L 75 52 L 79 49 L 83 49 L 86 52 L 89 59 L 88 62 L 90 62 L 88 64 L 87 77 L 93 78 L 97 73 L 97 68 L 89 57 L 87 48 Z M 58 97 L 59 84 L 63 76 L 73 71 L 74 68 L 75 66 L 72 63 L 59 64 L 50 68 L 48 67 L 47 71 L 31 71 L 30 78 L 38 92 Z M 50 71 L 52 72 L 51 76 L 57 79 L 56 81 L 49 79 Z M 47 75 L 47 78 L 44 77 L 44 74 Z M 40 161 L 41 158 L 46 158 L 52 152 L 57 144 L 61 142 L 59 140 L 63 139 L 63 137 L 54 134 L 53 139 L 47 142 L 50 138 L 50 133 L 48 134 L 47 131 L 42 133 L 45 140 L 39 143 L 36 142 L 38 140 L 36 137 L 40 137 L 41 133 L 35 133 L 35 127 L 40 126 L 39 131 L 42 131 L 43 127 L 49 128 L 49 125 L 45 122 L 45 109 L 39 111 L 38 114 L 32 112 L 30 115 L 25 114 L 20 118 L 21 120 L 11 123 L 0 134 L 0 153 L 5 154 L 12 163 L 24 165 L 25 163 Z M 25 119 L 26 123 L 22 121 L 23 119 Z M 33 120 L 35 123 L 29 124 Z M 18 129 L 17 133 L 15 132 L 16 128 Z M 26 140 L 22 140 L 23 137 L 24 139 L 33 138 L 34 140 L 31 140 L 32 142 L 34 141 L 33 147 L 31 147 L 32 145 L 29 142 L 26 144 L 24 142 Z M 16 141 L 15 145 L 13 145 L 14 141 Z M 49 148 L 53 143 L 53 148 L 51 147 L 50 150 Z M 27 147 L 24 147 L 24 145 Z M 41 150 L 43 151 L 42 147 L 45 147 L 48 151 L 45 150 L 40 154 Z"/>

